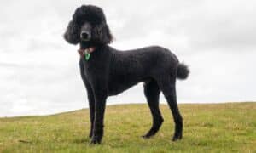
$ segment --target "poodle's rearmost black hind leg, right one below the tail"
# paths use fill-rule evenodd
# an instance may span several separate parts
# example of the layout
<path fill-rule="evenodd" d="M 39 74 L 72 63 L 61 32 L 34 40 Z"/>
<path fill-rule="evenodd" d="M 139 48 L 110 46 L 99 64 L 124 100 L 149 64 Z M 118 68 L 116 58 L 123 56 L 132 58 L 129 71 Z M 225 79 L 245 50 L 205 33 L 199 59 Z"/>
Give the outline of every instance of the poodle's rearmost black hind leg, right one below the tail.
<path fill-rule="evenodd" d="M 163 75 L 164 76 L 164 75 Z M 177 107 L 176 97 L 176 75 L 161 77 L 158 81 L 160 90 L 166 97 L 167 103 L 172 111 L 172 116 L 175 122 L 175 132 L 172 141 L 182 139 L 183 137 L 183 118 L 180 115 Z"/>

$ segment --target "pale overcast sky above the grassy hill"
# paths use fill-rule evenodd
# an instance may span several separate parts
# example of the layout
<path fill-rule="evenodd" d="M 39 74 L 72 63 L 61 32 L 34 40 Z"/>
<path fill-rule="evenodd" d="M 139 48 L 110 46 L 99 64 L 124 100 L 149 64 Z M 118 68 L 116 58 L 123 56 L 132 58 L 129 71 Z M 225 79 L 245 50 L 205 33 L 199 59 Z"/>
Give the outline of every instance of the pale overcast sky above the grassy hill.
<path fill-rule="evenodd" d="M 103 8 L 113 48 L 160 45 L 189 65 L 178 104 L 256 100 L 256 1 L 9 0 L 0 2 L 0 116 L 88 107 L 79 47 L 62 37 L 82 4 Z M 107 103 L 146 103 L 143 83 Z"/>

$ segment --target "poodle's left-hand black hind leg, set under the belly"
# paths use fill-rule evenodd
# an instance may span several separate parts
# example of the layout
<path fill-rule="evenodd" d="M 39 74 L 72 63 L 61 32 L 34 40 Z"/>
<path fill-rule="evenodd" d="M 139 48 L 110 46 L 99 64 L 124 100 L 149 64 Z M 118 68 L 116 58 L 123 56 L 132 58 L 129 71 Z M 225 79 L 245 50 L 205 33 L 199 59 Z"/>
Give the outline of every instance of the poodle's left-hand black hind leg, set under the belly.
<path fill-rule="evenodd" d="M 150 128 L 148 133 L 143 135 L 143 138 L 149 138 L 158 132 L 162 122 L 164 122 L 159 109 L 160 88 L 158 87 L 157 82 L 155 82 L 154 80 L 151 80 L 150 82 L 145 82 L 144 94 L 148 101 L 148 106 L 153 117 L 152 127 Z"/>

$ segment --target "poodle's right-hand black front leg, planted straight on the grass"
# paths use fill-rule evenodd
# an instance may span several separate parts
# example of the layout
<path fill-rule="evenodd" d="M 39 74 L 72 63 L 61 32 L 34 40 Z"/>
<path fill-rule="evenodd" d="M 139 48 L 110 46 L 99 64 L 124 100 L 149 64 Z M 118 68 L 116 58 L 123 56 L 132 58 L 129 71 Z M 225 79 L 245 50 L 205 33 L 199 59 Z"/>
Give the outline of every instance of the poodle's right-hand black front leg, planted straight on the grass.
<path fill-rule="evenodd" d="M 106 107 L 107 93 L 101 91 L 101 89 L 99 90 L 96 90 L 95 92 L 95 121 L 91 144 L 100 144 L 103 137 L 104 112 Z"/>

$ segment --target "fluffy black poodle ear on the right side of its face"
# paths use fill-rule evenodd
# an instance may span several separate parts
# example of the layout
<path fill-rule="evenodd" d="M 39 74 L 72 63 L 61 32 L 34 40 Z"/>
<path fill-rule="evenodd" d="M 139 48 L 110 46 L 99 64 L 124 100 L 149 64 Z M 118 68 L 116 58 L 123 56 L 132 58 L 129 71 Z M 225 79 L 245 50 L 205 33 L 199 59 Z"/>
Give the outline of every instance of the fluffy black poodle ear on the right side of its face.
<path fill-rule="evenodd" d="M 91 36 L 94 42 L 98 42 L 100 44 L 109 44 L 113 41 L 113 36 L 106 22 L 102 22 L 101 24 L 94 26 Z"/>

